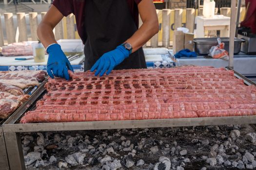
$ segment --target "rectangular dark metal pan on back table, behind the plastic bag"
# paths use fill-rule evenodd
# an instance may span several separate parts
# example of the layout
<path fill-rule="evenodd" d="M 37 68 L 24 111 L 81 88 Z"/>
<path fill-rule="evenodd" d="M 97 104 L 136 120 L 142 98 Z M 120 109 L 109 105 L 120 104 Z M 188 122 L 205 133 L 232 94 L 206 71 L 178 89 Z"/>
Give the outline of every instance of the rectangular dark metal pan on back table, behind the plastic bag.
<path fill-rule="evenodd" d="M 217 38 L 195 38 L 194 39 L 194 50 L 198 55 L 207 55 L 209 54 L 209 50 L 213 46 L 217 46 Z M 229 51 L 229 38 L 228 37 L 220 37 L 221 41 L 225 43 L 224 49 Z M 238 54 L 241 49 L 241 43 L 245 42 L 245 40 L 240 38 L 235 38 L 235 47 L 234 54 Z"/>

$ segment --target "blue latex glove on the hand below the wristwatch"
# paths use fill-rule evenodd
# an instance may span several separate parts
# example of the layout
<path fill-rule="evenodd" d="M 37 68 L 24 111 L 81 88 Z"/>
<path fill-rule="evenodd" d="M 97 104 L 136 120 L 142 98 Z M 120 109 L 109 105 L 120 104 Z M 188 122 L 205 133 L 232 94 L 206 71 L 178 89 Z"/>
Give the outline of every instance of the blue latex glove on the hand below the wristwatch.
<path fill-rule="evenodd" d="M 91 71 L 97 70 L 95 76 L 107 75 L 119 65 L 125 58 L 129 57 L 129 51 L 123 46 L 118 46 L 115 50 L 104 53 L 91 68 Z"/>

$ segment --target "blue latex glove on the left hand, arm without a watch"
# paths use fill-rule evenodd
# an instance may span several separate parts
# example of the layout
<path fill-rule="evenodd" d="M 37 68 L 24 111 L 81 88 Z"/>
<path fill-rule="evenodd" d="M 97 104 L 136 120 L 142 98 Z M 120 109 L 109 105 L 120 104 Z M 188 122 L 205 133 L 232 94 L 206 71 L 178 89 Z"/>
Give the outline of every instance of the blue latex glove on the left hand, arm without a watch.
<path fill-rule="evenodd" d="M 68 69 L 74 72 L 66 55 L 59 44 L 52 44 L 47 48 L 49 54 L 47 62 L 47 73 L 51 78 L 61 77 L 69 80 Z"/>

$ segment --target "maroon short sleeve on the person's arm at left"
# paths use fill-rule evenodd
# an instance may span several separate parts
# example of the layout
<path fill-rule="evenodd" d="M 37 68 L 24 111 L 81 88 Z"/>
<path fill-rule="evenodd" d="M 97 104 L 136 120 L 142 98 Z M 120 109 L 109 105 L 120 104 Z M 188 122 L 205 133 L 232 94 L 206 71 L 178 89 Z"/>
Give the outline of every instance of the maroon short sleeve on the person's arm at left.
<path fill-rule="evenodd" d="M 73 0 L 54 0 L 53 5 L 65 17 L 71 13 L 74 13 Z"/>

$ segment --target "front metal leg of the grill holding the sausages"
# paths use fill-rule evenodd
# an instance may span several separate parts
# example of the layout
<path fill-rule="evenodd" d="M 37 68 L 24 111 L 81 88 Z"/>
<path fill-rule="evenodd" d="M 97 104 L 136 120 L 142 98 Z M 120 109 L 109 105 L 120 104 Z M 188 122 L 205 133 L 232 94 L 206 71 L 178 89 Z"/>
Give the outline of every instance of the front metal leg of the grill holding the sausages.
<path fill-rule="evenodd" d="M 25 162 L 22 152 L 20 133 L 4 133 L 6 150 L 8 154 L 10 170 L 25 170 Z"/>

